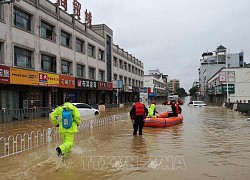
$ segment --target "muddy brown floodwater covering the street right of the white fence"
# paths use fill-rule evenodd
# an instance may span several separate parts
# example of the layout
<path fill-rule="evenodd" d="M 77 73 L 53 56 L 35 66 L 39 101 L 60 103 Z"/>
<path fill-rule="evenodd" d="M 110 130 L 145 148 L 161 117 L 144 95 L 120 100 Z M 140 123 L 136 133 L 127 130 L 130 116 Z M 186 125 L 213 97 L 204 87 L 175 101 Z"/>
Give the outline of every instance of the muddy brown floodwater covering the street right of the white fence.
<path fill-rule="evenodd" d="M 141 137 L 132 135 L 129 119 L 85 129 L 64 158 L 55 153 L 60 142 L 2 158 L 0 179 L 249 179 L 247 117 L 219 106 L 182 110 L 182 124 L 145 127 Z"/>

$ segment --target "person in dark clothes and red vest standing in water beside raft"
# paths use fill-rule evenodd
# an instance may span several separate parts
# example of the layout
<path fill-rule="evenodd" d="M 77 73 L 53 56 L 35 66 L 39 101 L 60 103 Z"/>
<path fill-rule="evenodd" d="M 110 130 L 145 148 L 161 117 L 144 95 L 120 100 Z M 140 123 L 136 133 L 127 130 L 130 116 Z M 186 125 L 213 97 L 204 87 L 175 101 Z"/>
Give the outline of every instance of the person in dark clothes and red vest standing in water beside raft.
<path fill-rule="evenodd" d="M 140 103 L 137 98 L 135 98 L 134 101 L 135 104 L 130 110 L 130 117 L 133 122 L 133 128 L 134 128 L 133 135 L 137 134 L 138 129 L 139 129 L 139 135 L 142 135 L 144 119 L 148 115 L 148 109 L 144 104 Z"/>

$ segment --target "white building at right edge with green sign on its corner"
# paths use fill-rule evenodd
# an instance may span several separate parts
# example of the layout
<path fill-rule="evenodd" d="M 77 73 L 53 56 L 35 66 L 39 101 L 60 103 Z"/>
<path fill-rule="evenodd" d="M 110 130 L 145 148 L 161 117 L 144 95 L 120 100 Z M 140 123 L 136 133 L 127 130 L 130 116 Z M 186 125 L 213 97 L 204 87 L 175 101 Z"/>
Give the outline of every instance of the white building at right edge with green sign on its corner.
<path fill-rule="evenodd" d="M 249 68 L 222 68 L 207 83 L 209 101 L 212 103 L 250 102 Z"/>

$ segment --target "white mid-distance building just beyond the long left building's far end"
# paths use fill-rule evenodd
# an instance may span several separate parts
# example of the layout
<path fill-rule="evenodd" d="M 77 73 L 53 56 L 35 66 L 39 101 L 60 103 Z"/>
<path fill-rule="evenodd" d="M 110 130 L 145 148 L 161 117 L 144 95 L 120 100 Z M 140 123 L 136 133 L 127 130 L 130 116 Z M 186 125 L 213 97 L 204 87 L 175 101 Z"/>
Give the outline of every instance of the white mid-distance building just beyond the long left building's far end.
<path fill-rule="evenodd" d="M 144 88 L 148 89 L 150 100 L 163 100 L 167 98 L 167 81 L 168 75 L 163 75 L 159 69 L 149 70 L 149 74 L 144 75 Z"/>

